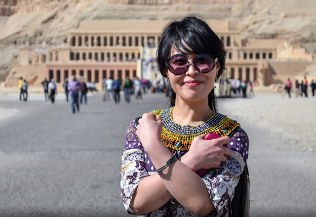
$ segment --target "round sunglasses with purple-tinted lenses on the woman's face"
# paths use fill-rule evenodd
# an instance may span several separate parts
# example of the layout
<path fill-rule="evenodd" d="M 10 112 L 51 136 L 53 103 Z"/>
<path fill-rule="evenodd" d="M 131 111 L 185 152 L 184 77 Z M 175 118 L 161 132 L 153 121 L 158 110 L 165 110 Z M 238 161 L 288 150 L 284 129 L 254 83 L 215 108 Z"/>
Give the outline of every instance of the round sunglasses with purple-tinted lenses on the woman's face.
<path fill-rule="evenodd" d="M 193 61 L 189 60 L 181 55 L 176 54 L 168 59 L 167 68 L 170 72 L 174 74 L 183 74 L 188 71 L 190 63 L 193 63 L 193 66 L 198 72 L 207 73 L 214 69 L 217 58 L 213 58 L 209 53 L 200 53 L 197 54 L 196 58 Z"/>

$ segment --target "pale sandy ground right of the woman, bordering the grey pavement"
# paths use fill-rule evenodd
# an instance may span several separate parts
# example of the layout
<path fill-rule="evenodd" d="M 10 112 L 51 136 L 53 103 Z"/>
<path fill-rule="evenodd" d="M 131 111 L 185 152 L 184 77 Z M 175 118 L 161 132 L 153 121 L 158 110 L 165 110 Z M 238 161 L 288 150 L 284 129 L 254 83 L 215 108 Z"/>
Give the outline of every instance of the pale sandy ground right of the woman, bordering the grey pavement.
<path fill-rule="evenodd" d="M 221 102 L 220 110 L 237 120 L 259 126 L 285 143 L 303 150 L 316 150 L 316 97 L 302 98 L 259 93 L 248 98 L 230 98 Z"/>

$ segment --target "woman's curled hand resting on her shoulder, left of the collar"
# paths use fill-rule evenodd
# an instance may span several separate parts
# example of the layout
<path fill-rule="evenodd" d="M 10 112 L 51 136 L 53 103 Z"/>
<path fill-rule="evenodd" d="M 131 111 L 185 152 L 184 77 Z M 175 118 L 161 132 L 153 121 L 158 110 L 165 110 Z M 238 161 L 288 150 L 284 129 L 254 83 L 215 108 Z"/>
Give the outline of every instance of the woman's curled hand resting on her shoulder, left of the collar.
<path fill-rule="evenodd" d="M 136 135 L 141 141 L 145 150 L 150 145 L 156 144 L 154 142 L 160 142 L 160 136 L 162 132 L 162 119 L 159 115 L 152 112 L 143 114 L 142 118 L 138 120 L 138 126 Z"/>

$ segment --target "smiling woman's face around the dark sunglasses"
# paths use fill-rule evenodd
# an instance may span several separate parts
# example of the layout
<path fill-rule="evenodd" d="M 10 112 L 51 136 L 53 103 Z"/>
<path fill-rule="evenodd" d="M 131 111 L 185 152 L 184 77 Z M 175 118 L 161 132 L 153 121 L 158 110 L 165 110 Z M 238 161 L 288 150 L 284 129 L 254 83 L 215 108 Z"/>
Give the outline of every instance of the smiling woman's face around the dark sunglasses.
<path fill-rule="evenodd" d="M 172 48 L 169 57 L 175 54 L 182 54 L 177 49 Z M 182 54 L 189 62 L 193 62 L 197 54 Z M 168 57 L 168 58 L 169 58 Z M 183 74 L 173 74 L 168 70 L 167 75 L 170 84 L 176 93 L 176 98 L 180 97 L 183 101 L 197 102 L 208 100 L 208 94 L 212 91 L 215 83 L 216 73 L 221 68 L 219 62 L 207 73 L 198 72 L 193 63 Z M 179 100 L 179 99 L 177 99 Z"/>

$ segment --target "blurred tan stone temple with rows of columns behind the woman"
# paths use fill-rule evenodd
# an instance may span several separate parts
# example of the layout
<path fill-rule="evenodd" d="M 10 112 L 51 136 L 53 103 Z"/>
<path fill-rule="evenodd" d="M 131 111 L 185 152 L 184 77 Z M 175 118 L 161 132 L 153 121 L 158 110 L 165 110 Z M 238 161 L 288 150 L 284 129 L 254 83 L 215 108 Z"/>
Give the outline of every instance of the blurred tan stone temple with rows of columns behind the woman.
<path fill-rule="evenodd" d="M 62 86 L 72 74 L 95 82 L 103 78 L 123 79 L 138 76 L 148 80 L 161 78 L 156 62 L 160 33 L 169 20 L 82 20 L 69 31 L 63 44 L 25 44 L 18 61 L 5 80 L 5 86 L 17 86 L 19 77 L 40 86 L 46 77 Z M 285 39 L 241 38 L 231 30 L 229 21 L 208 20 L 227 49 L 226 77 L 252 81 L 255 86 L 284 83 L 296 78 L 313 63 L 313 55 L 300 44 Z M 299 77 L 301 79 L 301 77 Z"/>

